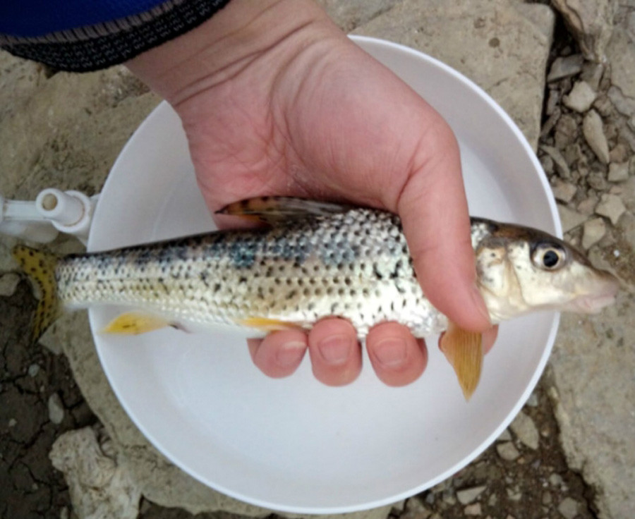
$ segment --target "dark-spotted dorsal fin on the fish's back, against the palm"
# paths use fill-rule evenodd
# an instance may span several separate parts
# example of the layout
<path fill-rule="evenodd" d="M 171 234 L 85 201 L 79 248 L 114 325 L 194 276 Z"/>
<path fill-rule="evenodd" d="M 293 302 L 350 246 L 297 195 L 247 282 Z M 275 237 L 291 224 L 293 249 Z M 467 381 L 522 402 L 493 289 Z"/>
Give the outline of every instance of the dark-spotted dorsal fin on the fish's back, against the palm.
<path fill-rule="evenodd" d="M 317 200 L 306 200 L 296 197 L 259 197 L 229 204 L 217 211 L 217 214 L 243 216 L 273 225 L 288 219 L 301 219 L 346 212 L 351 207 L 346 204 L 318 202 Z"/>

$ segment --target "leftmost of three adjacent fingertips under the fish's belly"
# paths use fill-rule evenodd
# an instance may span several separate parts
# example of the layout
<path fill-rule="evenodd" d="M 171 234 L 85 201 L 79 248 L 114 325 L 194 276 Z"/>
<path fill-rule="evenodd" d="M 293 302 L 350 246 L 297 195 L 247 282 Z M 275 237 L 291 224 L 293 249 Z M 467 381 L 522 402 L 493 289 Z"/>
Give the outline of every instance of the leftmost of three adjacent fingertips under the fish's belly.
<path fill-rule="evenodd" d="M 253 363 L 268 377 L 288 377 L 304 357 L 307 337 L 301 330 L 274 331 L 263 339 L 248 339 Z"/>

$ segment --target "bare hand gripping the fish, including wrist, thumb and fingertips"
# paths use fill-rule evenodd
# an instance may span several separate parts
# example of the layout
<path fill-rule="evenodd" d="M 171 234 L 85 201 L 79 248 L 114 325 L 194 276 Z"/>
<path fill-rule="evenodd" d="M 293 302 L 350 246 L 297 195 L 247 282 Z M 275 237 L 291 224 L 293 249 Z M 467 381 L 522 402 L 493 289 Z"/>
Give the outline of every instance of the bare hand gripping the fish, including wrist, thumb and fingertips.
<path fill-rule="evenodd" d="M 233 0 L 128 67 L 181 116 L 212 211 L 291 195 L 397 212 L 430 301 L 462 328 L 488 330 L 483 346 L 492 346 L 496 329 L 475 284 L 452 131 L 313 1 Z M 226 218 L 218 223 L 227 226 Z M 272 377 L 294 372 L 307 346 L 325 384 L 347 384 L 361 370 L 356 331 L 344 319 L 249 343 L 255 364 Z M 425 369 L 423 341 L 400 324 L 377 324 L 366 347 L 386 384 L 408 384 Z"/>

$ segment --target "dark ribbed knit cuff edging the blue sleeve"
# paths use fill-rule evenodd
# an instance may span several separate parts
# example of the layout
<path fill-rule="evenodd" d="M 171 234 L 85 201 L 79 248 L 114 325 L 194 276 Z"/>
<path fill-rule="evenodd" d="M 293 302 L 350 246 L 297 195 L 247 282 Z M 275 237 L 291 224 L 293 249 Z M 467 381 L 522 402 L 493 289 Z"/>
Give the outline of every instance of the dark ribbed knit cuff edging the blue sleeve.
<path fill-rule="evenodd" d="M 188 32 L 228 3 L 229 0 L 169 0 L 145 13 L 42 37 L 0 35 L 0 47 L 60 71 L 96 71 Z"/>

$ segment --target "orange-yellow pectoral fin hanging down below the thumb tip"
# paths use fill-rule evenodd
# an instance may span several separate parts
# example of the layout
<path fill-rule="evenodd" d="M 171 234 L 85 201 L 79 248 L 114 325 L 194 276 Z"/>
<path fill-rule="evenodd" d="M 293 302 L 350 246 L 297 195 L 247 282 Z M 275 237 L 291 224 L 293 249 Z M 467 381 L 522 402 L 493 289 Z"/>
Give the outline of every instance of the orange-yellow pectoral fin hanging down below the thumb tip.
<path fill-rule="evenodd" d="M 483 336 L 466 331 L 453 322 L 441 338 L 441 351 L 454 368 L 466 401 L 478 386 L 483 366 Z"/>

